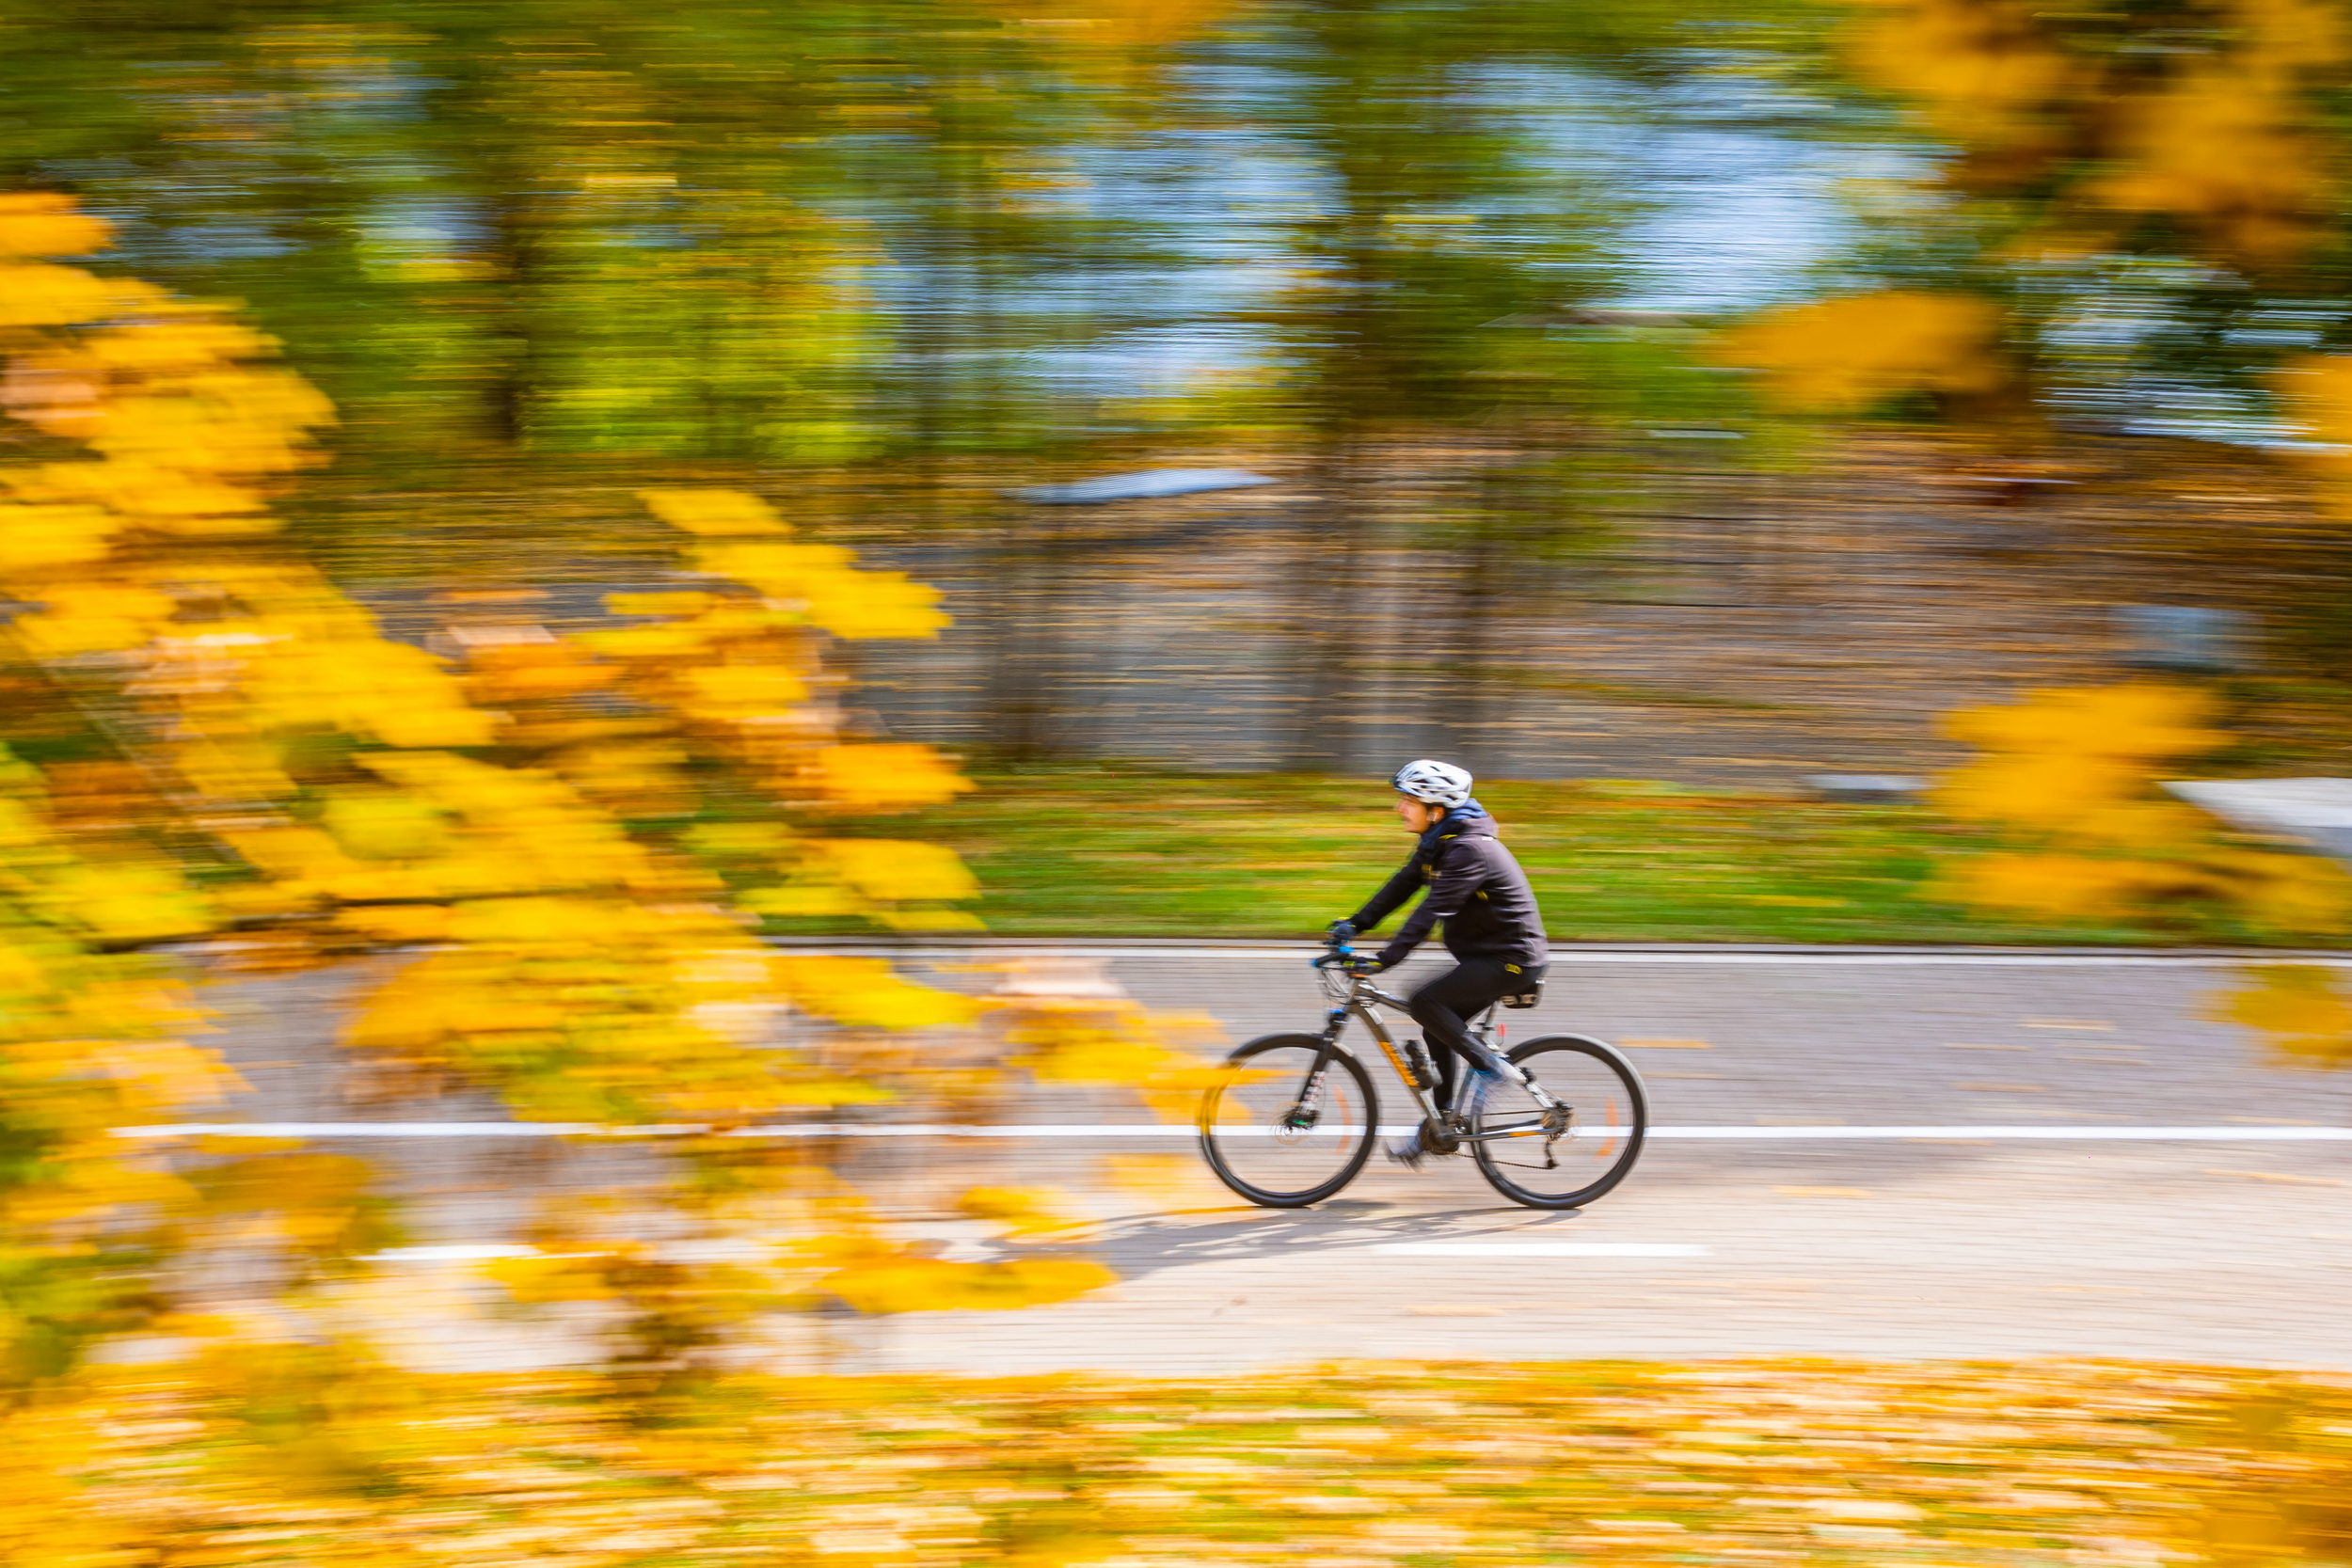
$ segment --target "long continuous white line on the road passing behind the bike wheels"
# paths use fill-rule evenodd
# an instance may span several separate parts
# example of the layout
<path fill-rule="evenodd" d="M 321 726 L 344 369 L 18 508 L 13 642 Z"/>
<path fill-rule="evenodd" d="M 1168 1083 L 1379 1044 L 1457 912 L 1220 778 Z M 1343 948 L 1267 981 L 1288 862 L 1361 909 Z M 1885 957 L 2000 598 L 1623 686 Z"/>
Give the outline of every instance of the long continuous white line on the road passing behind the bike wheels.
<path fill-rule="evenodd" d="M 1416 1124 L 1381 1126 L 1390 1138 Z M 600 1126 L 593 1121 L 169 1121 L 118 1126 L 115 1138 L 680 1138 L 706 1126 Z M 802 1121 L 736 1126 L 722 1138 L 1197 1138 L 1178 1121 Z M 1272 1128 L 1223 1128 L 1225 1138 L 1272 1138 Z M 1616 1138 L 1588 1128 L 1583 1138 Z M 2352 1143 L 2352 1126 L 1653 1126 L 1651 1138 L 1835 1140 L 1835 1138 L 2039 1138 L 2093 1143 Z"/>

